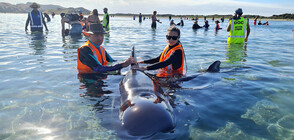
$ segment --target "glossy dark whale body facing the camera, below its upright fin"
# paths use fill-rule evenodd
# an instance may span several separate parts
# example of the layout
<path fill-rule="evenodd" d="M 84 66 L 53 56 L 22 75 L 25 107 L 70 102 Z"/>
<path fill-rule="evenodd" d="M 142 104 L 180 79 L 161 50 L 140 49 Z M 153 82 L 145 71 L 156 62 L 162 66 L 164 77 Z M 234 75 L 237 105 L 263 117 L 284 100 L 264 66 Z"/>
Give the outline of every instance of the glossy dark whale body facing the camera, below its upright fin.
<path fill-rule="evenodd" d="M 150 136 L 175 128 L 169 97 L 141 71 L 129 70 L 120 82 L 122 126 L 133 136 Z"/>

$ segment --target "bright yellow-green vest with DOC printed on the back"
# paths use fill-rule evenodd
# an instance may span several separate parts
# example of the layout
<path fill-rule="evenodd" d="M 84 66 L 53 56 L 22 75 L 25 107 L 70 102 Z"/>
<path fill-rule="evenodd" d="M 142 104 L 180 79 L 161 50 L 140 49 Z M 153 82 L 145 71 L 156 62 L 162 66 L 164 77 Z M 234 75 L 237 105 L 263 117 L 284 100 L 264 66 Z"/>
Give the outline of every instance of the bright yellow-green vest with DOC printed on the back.
<path fill-rule="evenodd" d="M 233 22 L 232 22 L 233 21 Z M 228 37 L 228 44 L 230 43 L 244 43 L 245 34 L 247 31 L 247 20 L 241 17 L 238 20 L 230 20 L 231 29 Z"/>

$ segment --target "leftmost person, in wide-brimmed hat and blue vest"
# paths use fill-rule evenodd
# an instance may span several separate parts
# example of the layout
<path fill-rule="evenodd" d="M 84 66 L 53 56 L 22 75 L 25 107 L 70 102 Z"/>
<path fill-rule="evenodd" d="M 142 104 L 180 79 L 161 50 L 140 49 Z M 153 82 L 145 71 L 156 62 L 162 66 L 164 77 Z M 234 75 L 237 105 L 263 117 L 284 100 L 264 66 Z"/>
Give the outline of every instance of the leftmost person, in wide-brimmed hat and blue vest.
<path fill-rule="evenodd" d="M 30 7 L 33 8 L 33 10 L 28 13 L 28 18 L 27 18 L 26 25 L 25 25 L 25 31 L 28 30 L 29 23 L 30 23 L 30 27 L 31 27 L 32 32 L 33 31 L 42 32 L 43 25 L 44 25 L 46 31 L 48 31 L 43 14 L 42 14 L 42 12 L 38 11 L 38 8 L 40 8 L 40 5 L 34 2 L 30 5 Z"/>

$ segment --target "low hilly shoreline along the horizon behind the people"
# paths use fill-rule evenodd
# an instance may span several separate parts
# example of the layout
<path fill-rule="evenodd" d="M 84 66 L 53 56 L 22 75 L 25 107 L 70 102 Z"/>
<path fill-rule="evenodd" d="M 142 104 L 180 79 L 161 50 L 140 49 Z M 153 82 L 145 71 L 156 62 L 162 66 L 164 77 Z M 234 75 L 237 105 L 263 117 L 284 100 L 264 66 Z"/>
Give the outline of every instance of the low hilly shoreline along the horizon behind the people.
<path fill-rule="evenodd" d="M 31 11 L 32 9 L 30 8 L 30 5 L 32 2 L 27 2 L 27 3 L 19 3 L 19 4 L 10 4 L 6 2 L 0 2 L 0 13 L 27 13 Z M 91 10 L 85 9 L 83 7 L 69 7 L 65 8 L 59 5 L 53 5 L 53 4 L 44 4 L 40 5 L 41 8 L 39 9 L 43 13 L 47 13 L 51 15 L 51 13 L 55 13 L 56 15 L 59 15 L 60 13 L 78 13 L 78 11 L 81 11 L 83 14 L 88 15 L 90 14 Z M 101 15 L 100 13 L 99 15 Z M 110 16 L 127 16 L 127 17 L 133 17 L 133 16 L 138 16 L 139 13 L 109 13 Z M 150 17 L 152 16 L 152 13 L 150 14 L 142 14 L 142 16 L 145 17 Z M 176 15 L 176 14 L 162 14 L 159 13 L 157 14 L 157 17 L 183 17 L 183 18 L 196 18 L 198 17 L 199 19 L 203 19 L 204 17 L 207 17 L 207 19 L 211 19 L 214 17 L 215 19 L 220 19 L 221 17 L 224 17 L 225 19 L 230 19 L 233 17 L 232 14 L 224 14 L 224 15 L 218 15 L 218 14 L 212 14 L 212 15 L 196 15 L 195 14 L 190 14 L 190 15 Z M 280 15 L 272 15 L 272 16 L 261 16 L 261 15 L 243 15 L 245 18 L 249 19 L 254 19 L 255 17 L 260 17 L 259 19 L 261 20 L 283 20 L 283 21 L 294 21 L 294 14 L 291 13 L 285 13 L 285 14 L 280 14 Z"/>

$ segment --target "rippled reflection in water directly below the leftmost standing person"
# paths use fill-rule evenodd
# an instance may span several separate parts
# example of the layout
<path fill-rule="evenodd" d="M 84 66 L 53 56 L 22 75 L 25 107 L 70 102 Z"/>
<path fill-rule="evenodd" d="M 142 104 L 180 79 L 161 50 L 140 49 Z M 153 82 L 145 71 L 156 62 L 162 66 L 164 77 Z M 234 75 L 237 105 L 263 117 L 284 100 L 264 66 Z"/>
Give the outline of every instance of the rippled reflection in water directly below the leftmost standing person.
<path fill-rule="evenodd" d="M 30 39 L 29 46 L 35 50 L 33 55 L 42 55 L 45 53 L 45 48 L 46 48 L 46 41 L 47 41 L 47 35 L 48 32 L 31 32 L 28 33 L 26 32 Z"/>

